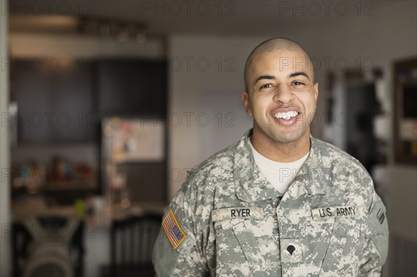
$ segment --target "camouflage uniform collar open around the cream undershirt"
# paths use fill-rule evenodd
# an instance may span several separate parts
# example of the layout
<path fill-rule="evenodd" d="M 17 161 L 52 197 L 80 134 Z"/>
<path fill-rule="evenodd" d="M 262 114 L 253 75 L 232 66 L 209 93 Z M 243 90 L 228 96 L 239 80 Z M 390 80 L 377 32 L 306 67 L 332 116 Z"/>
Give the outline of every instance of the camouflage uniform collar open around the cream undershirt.
<path fill-rule="evenodd" d="M 282 196 L 275 188 L 266 180 L 261 174 L 259 168 L 254 162 L 254 156 L 249 144 L 249 137 L 252 135 L 252 129 L 243 135 L 238 142 L 234 151 L 234 184 L 236 196 L 238 199 L 254 202 L 266 199 L 272 199 Z M 316 139 L 310 136 L 311 149 L 309 157 L 304 165 L 302 165 L 294 181 L 288 187 L 284 194 L 285 199 L 296 199 L 301 194 L 325 194 L 320 178 L 314 181 L 311 178 L 311 172 L 314 174 L 323 174 L 323 172 L 316 172 L 322 166 L 318 157 L 318 149 Z M 314 176 L 313 176 L 314 177 Z"/>

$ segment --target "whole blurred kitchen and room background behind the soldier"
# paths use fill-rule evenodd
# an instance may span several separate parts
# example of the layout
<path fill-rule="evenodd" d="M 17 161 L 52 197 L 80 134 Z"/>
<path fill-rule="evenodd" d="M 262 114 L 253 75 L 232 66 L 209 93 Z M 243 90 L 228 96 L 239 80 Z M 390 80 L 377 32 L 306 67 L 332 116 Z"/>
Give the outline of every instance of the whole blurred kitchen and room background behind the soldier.
<path fill-rule="evenodd" d="M 153 276 L 188 169 L 252 126 L 250 51 L 288 37 L 312 134 L 387 207 L 383 276 L 417 276 L 416 1 L 0 0 L 0 276 Z"/>

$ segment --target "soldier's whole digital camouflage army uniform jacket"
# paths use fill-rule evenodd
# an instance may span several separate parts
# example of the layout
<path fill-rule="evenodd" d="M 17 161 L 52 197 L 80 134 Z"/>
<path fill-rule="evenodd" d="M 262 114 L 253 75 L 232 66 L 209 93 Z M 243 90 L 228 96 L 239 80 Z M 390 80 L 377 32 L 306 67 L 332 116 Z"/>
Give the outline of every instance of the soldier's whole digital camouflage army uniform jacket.
<path fill-rule="evenodd" d="M 190 171 L 156 240 L 156 274 L 380 276 L 388 225 L 363 166 L 311 137 L 282 195 L 254 164 L 251 134 Z"/>

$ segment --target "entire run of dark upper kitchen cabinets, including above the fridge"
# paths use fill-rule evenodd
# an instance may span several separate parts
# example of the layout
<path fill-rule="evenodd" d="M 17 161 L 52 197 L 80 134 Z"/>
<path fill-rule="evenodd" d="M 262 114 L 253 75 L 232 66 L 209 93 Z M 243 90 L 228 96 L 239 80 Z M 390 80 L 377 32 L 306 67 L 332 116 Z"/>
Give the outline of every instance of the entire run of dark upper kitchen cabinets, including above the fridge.
<path fill-rule="evenodd" d="M 98 143 L 103 117 L 166 117 L 166 60 L 83 60 L 67 71 L 15 64 L 19 143 Z"/>

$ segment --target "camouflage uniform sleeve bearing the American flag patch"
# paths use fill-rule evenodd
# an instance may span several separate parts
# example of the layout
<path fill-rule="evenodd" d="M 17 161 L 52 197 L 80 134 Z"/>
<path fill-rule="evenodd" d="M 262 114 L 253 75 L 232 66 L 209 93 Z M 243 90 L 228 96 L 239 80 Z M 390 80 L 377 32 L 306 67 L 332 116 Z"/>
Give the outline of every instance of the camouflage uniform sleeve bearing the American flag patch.
<path fill-rule="evenodd" d="M 165 276 L 206 276 L 201 244 L 197 240 L 193 178 L 188 176 L 163 217 L 154 245 L 152 261 L 156 274 Z"/>

